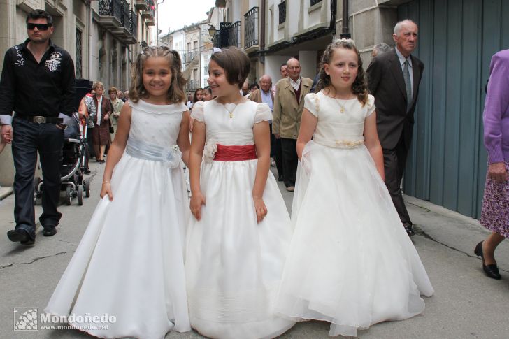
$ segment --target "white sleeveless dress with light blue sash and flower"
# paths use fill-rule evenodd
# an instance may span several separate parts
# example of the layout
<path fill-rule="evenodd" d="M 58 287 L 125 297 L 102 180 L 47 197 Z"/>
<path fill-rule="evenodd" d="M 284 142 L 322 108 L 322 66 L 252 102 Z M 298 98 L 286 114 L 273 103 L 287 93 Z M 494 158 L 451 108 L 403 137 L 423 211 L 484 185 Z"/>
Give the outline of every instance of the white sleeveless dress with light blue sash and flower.
<path fill-rule="evenodd" d="M 176 146 L 183 104 L 132 103 L 131 129 L 111 178 L 45 312 L 115 317 L 102 338 L 164 338 L 190 331 L 185 289 L 188 199 Z"/>

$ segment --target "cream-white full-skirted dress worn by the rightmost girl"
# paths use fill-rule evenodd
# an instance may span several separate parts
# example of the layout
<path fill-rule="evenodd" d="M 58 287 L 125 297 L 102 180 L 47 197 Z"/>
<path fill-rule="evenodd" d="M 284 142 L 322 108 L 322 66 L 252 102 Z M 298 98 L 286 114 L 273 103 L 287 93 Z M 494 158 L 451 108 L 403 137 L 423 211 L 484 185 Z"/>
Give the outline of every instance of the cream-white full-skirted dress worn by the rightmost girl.
<path fill-rule="evenodd" d="M 276 310 L 331 322 L 330 336 L 420 314 L 420 295 L 433 287 L 364 146 L 373 96 L 362 106 L 319 92 L 306 96 L 305 108 L 317 127 L 298 168 Z"/>

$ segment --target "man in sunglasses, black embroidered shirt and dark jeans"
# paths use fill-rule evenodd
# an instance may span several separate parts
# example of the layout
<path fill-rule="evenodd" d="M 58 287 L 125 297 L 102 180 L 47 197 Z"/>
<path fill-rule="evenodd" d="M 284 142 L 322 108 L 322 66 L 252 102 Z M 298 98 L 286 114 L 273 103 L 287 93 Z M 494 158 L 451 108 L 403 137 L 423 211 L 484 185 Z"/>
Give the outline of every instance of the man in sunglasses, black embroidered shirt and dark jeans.
<path fill-rule="evenodd" d="M 66 50 L 54 45 L 52 17 L 44 10 L 27 16 L 28 39 L 9 48 L 0 80 L 1 138 L 13 144 L 14 219 L 8 238 L 23 245 L 35 242 L 34 174 L 39 153 L 43 171 L 43 236 L 57 233 L 60 214 L 60 163 L 64 129 L 76 110 L 74 64 Z M 14 117 L 13 117 L 13 112 Z"/>

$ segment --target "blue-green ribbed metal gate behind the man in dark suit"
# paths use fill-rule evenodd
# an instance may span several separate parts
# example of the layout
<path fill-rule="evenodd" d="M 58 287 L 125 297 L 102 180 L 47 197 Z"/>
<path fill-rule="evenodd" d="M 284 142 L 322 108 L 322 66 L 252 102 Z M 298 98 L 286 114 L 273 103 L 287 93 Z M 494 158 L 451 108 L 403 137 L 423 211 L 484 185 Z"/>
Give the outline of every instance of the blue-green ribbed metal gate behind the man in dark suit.
<path fill-rule="evenodd" d="M 414 0 L 398 18 L 419 25 L 424 62 L 406 194 L 480 217 L 487 154 L 482 110 L 489 62 L 509 48 L 509 1 Z"/>

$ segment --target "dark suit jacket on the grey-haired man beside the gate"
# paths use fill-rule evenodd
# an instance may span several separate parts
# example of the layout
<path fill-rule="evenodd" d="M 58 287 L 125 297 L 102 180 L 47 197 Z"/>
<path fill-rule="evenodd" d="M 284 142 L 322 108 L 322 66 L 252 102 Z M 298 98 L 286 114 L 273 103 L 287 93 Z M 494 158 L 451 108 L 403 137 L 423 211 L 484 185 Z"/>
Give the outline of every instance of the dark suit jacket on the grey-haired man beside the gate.
<path fill-rule="evenodd" d="M 407 150 L 412 140 L 413 113 L 424 64 L 413 55 L 410 55 L 410 58 L 413 72 L 413 100 L 408 113 L 405 80 L 396 50 L 392 49 L 375 57 L 366 71 L 369 92 L 375 96 L 378 138 L 382 148 L 387 150 L 396 147 L 402 134 Z"/>

